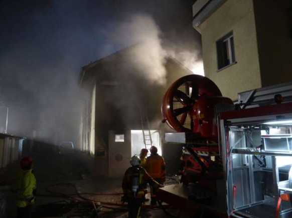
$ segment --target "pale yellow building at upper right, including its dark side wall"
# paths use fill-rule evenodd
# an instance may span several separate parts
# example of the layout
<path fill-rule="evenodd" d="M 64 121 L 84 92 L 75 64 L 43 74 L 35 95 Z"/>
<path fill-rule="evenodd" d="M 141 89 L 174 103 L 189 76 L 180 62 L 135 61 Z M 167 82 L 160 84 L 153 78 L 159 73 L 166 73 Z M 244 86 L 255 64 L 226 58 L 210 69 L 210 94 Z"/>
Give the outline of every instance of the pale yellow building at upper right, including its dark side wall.
<path fill-rule="evenodd" d="M 292 81 L 290 0 L 197 0 L 205 76 L 224 96 Z"/>

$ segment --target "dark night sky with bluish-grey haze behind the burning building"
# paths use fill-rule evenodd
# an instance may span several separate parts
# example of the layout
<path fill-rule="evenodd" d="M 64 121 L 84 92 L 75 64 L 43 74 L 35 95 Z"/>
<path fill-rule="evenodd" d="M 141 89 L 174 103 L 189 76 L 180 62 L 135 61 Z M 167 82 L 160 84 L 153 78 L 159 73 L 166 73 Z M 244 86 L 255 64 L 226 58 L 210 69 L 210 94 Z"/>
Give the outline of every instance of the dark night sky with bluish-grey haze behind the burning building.
<path fill-rule="evenodd" d="M 82 98 L 80 68 L 136 42 L 113 40 L 119 37 L 116 29 L 129 14 L 153 17 L 164 45 L 175 52 L 194 53 L 200 60 L 200 35 L 192 27 L 192 3 L 1 0 L 0 102 L 10 108 L 8 133 L 30 137 L 32 130 L 38 130 L 46 137 L 58 134 L 62 140 L 73 140 L 70 137 L 79 125 Z"/>

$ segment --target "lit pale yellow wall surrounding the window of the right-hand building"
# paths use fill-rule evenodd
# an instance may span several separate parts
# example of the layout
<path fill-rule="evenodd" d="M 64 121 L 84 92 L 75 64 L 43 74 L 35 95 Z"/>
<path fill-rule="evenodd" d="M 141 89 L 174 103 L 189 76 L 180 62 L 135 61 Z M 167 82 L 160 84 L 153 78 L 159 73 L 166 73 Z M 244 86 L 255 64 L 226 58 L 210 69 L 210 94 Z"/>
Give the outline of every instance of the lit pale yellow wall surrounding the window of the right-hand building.
<path fill-rule="evenodd" d="M 261 87 L 252 0 L 227 0 L 199 28 L 202 33 L 205 76 L 224 96 Z M 236 64 L 218 72 L 216 41 L 233 30 Z"/>

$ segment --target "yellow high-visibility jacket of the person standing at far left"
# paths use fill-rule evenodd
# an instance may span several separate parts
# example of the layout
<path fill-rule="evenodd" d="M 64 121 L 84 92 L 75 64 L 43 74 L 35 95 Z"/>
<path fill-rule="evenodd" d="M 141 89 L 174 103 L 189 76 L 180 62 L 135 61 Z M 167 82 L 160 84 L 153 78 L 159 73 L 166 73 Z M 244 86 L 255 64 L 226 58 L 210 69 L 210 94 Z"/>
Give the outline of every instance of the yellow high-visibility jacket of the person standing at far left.
<path fill-rule="evenodd" d="M 25 207 L 29 202 L 35 200 L 33 191 L 37 187 L 37 181 L 35 175 L 32 173 L 33 169 L 23 170 L 21 169 L 17 179 L 17 207 Z"/>

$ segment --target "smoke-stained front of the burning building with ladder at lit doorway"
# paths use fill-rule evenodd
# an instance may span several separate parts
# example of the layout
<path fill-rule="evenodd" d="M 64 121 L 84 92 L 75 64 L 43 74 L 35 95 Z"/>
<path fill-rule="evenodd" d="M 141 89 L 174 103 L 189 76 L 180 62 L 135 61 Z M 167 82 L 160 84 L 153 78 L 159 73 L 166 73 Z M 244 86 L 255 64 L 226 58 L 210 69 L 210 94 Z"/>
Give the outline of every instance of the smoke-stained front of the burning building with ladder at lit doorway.
<path fill-rule="evenodd" d="M 163 78 L 152 77 L 152 69 L 143 66 L 141 70 L 133 61 L 137 46 L 81 68 L 80 86 L 85 94 L 80 114 L 80 149 L 103 166 L 96 167 L 96 174 L 123 175 L 131 155 L 138 154 L 144 146 L 139 133 L 142 129 L 151 130 L 154 145 L 162 149 L 162 131 L 168 126 L 161 122 L 161 101 L 170 84 L 192 74 L 177 60 L 167 58 Z"/>

